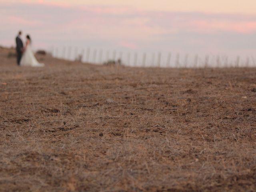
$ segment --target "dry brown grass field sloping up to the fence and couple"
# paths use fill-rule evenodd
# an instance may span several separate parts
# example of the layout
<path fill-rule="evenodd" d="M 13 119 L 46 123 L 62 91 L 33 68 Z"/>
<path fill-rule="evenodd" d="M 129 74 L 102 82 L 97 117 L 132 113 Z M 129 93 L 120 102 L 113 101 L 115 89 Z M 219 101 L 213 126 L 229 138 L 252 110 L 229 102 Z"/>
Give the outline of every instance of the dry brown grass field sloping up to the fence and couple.
<path fill-rule="evenodd" d="M 21 68 L 9 51 L 0 191 L 256 190 L 256 69 Z"/>

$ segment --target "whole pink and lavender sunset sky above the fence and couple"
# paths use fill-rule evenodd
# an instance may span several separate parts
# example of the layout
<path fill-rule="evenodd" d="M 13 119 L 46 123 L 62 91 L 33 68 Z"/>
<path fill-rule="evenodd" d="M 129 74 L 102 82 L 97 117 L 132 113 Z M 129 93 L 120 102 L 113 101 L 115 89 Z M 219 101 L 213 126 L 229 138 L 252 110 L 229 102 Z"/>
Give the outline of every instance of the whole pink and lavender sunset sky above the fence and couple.
<path fill-rule="evenodd" d="M 35 48 L 77 46 L 139 52 L 256 52 L 256 1 L 0 0 L 0 44 L 17 31 Z M 186 5 L 186 6 L 184 6 Z"/>

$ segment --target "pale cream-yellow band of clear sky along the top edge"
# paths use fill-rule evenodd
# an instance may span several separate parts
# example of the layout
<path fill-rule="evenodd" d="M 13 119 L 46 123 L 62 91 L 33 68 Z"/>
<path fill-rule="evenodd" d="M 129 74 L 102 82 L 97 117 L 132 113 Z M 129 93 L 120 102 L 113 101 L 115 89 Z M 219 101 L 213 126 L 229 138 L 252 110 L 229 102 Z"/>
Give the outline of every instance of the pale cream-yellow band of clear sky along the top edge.
<path fill-rule="evenodd" d="M 151 11 L 256 13 L 256 2 L 254 0 L 2 0 L 2 2 L 42 3 L 58 6 L 126 6 Z"/>

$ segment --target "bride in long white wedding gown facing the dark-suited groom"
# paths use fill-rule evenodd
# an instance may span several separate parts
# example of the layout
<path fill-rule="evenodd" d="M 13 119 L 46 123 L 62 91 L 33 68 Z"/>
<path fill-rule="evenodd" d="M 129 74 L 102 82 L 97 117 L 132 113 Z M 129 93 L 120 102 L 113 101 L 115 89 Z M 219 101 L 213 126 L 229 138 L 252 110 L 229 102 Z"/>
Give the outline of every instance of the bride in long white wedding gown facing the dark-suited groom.
<path fill-rule="evenodd" d="M 43 67 L 44 64 L 39 63 L 32 52 L 32 48 L 30 46 L 31 44 L 30 36 L 27 35 L 26 38 L 27 38 L 26 47 L 25 47 L 25 51 L 22 54 L 22 58 L 20 60 L 20 66 Z"/>

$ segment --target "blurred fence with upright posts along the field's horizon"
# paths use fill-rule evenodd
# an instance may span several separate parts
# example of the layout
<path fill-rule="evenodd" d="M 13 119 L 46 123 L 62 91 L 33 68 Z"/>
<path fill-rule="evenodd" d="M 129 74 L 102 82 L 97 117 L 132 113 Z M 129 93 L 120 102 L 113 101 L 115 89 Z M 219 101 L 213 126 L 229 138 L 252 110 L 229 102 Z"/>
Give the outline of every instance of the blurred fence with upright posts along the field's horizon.
<path fill-rule="evenodd" d="M 92 50 L 92 51 L 91 51 Z M 90 47 L 79 49 L 72 46 L 51 46 L 49 51 L 53 57 L 66 60 L 80 60 L 95 64 L 102 64 L 108 60 L 121 60 L 126 66 L 135 67 L 175 67 L 175 68 L 204 68 L 204 67 L 256 67 L 254 56 L 228 57 L 227 55 L 199 56 L 172 52 L 131 52 L 117 50 L 91 49 Z M 151 55 L 151 56 L 150 56 Z M 173 56 L 174 55 L 174 56 Z M 133 61 L 131 63 L 131 60 Z"/>

